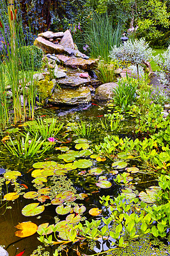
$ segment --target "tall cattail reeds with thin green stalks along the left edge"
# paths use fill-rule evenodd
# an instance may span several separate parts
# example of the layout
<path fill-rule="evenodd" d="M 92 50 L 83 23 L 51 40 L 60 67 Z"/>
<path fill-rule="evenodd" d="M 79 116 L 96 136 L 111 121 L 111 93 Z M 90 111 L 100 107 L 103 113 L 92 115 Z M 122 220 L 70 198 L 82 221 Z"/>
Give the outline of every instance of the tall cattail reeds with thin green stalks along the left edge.
<path fill-rule="evenodd" d="M 25 35 L 22 30 L 22 20 L 19 15 L 19 3 L 15 6 L 8 6 L 6 1 L 1 1 L 1 38 L 3 38 L 3 49 L 0 56 L 0 66 L 3 72 L 0 73 L 0 81 L 3 81 L 1 90 L 6 93 L 6 86 L 10 87 L 12 99 L 8 101 L 1 97 L 1 104 L 5 106 L 0 108 L 0 116 L 3 116 L 3 128 L 8 123 L 10 113 L 14 124 L 33 119 L 36 90 L 33 83 L 33 68 L 29 72 L 24 72 L 24 67 L 19 68 L 19 47 L 25 46 Z M 33 64 L 33 56 L 27 58 L 30 66 Z M 32 65 L 33 67 L 33 65 Z M 21 70 L 21 72 L 19 71 Z M 9 112 L 10 109 L 10 112 Z M 5 115 L 4 113 L 5 112 Z"/>

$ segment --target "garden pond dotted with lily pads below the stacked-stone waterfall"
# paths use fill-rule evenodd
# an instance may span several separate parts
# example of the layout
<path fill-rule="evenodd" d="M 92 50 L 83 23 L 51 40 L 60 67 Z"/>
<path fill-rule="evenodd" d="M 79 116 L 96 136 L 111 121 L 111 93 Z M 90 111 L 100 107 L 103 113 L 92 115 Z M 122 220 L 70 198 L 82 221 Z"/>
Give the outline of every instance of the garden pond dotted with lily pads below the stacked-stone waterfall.
<path fill-rule="evenodd" d="M 33 129 L 36 129 L 34 121 L 9 127 L 2 134 L 0 244 L 5 246 L 10 256 L 18 255 L 20 252 L 24 252 L 24 256 L 170 255 L 169 237 L 159 240 L 155 238 L 153 241 L 149 232 L 146 232 L 147 228 L 143 229 L 144 232 L 140 236 L 137 233 L 139 227 L 136 227 L 135 235 L 129 229 L 130 236 L 124 236 L 124 243 L 130 241 L 130 246 L 127 244 L 123 249 L 119 236 L 113 238 L 108 235 L 107 228 L 112 231 L 116 228 L 114 221 L 110 220 L 107 223 L 113 214 L 113 204 L 108 207 L 108 195 L 112 199 L 124 193 L 127 200 L 140 198 L 141 201 L 150 204 L 155 202 L 154 196 L 160 189 L 157 175 L 148 172 L 146 163 L 139 161 L 135 154 L 125 152 L 126 150 L 115 150 L 118 144 L 123 144 L 121 141 L 118 141 L 117 145 L 112 144 L 111 141 L 118 140 L 118 136 L 121 140 L 128 138 L 127 140 L 134 141 L 137 136 L 134 132 L 135 116 L 120 116 L 115 112 L 121 119 L 115 124 L 108 117 L 113 111 L 111 105 L 108 108 L 100 103 L 72 109 L 37 109 L 36 118 L 39 116 L 40 122 L 50 126 L 52 118 L 57 120 L 58 132 L 54 138 L 47 134 L 43 143 L 46 143 L 44 147 L 49 145 L 50 148 L 42 155 L 38 150 L 34 157 L 24 157 L 24 151 L 19 152 L 18 144 L 15 143 L 20 141 L 22 148 L 26 147 L 26 134 L 29 131 L 32 136 L 29 140 L 31 145 L 31 140 L 36 138 L 36 134 L 33 133 Z M 112 139 L 112 136 L 115 138 Z M 105 145 L 99 146 L 100 143 Z M 20 157 L 15 156 L 17 153 L 12 154 L 12 151 L 9 151 L 9 148 L 13 147 L 17 148 Z M 145 189 L 148 189 L 147 194 L 142 192 Z M 141 210 L 135 207 L 135 204 L 136 202 L 129 204 L 128 211 L 131 214 Z M 122 221 L 120 216 L 119 218 L 118 224 Z M 70 228 L 73 230 L 79 223 L 83 226 L 85 220 L 89 223 L 92 220 L 96 221 L 93 223 L 94 226 L 89 227 L 87 236 L 81 234 L 81 227 L 78 234 L 70 231 Z M 22 224 L 20 227 L 19 223 Z M 48 225 L 52 226 L 47 228 Z M 104 225 L 107 225 L 107 228 L 104 228 Z M 118 226 L 120 227 L 120 224 Z M 56 230 L 53 229 L 55 227 Z M 39 234 L 36 232 L 37 228 Z M 93 232 L 97 229 L 100 230 L 100 234 Z M 119 234 L 121 231 L 116 229 Z M 47 235 L 43 237 L 44 232 Z M 37 237 L 43 237 L 43 243 Z M 48 237 L 51 238 L 45 241 Z M 91 237 L 92 239 L 89 239 Z M 52 244 L 50 239 L 55 243 Z M 40 245 L 43 248 L 39 247 L 39 251 L 33 253 Z M 56 250 L 58 246 L 61 251 Z"/>

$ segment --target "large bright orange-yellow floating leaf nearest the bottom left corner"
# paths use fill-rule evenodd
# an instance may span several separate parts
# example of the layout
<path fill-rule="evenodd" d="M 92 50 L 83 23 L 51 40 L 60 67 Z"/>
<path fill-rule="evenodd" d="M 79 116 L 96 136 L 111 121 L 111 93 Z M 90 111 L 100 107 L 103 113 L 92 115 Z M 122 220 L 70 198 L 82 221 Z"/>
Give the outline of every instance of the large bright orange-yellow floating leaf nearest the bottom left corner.
<path fill-rule="evenodd" d="M 15 232 L 15 236 L 27 237 L 35 234 L 38 226 L 33 222 L 26 221 L 26 222 L 19 223 L 15 228 L 20 229 Z"/>

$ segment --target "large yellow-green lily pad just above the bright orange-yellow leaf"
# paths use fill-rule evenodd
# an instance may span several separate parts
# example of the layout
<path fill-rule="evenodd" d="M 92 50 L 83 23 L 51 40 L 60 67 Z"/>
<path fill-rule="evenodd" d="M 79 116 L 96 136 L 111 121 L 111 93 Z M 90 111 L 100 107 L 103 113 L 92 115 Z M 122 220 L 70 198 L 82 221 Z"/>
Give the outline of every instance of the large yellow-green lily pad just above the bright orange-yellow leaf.
<path fill-rule="evenodd" d="M 22 209 L 22 215 L 24 216 L 35 216 L 42 213 L 45 209 L 43 205 L 38 206 L 39 203 L 27 204 Z"/>

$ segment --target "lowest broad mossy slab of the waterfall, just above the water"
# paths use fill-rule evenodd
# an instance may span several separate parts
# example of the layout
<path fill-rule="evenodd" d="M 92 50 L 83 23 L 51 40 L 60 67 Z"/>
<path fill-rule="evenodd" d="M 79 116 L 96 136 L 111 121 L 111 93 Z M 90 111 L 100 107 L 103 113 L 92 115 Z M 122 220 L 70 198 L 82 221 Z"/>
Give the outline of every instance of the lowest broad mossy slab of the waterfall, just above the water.
<path fill-rule="evenodd" d="M 53 104 L 68 104 L 68 105 L 78 105 L 87 104 L 91 101 L 91 93 L 88 87 L 81 87 L 78 89 L 73 88 L 61 88 L 54 89 L 52 97 L 50 97 L 49 102 Z"/>

